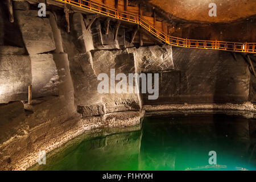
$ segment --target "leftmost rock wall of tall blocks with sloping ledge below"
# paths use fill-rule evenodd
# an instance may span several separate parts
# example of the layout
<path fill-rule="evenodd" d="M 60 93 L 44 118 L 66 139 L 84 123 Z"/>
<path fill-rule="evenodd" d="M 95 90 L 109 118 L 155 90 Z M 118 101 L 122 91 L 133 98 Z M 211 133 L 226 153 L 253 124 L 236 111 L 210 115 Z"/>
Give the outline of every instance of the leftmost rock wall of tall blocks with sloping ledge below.
<path fill-rule="evenodd" d="M 44 149 L 56 144 L 53 139 L 79 126 L 80 115 L 54 15 L 47 12 L 46 18 L 39 18 L 28 3 L 14 3 L 15 22 L 10 23 L 0 3 L 0 163 L 1 169 L 26 169 L 33 163 L 26 156 L 42 144 Z"/>

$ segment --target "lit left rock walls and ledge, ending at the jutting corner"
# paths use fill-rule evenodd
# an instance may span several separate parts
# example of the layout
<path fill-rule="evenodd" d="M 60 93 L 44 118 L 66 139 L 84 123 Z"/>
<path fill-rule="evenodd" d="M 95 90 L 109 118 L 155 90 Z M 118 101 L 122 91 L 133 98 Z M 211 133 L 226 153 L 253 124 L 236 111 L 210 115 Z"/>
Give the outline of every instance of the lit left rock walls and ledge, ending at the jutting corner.
<path fill-rule="evenodd" d="M 45 18 L 39 18 L 37 10 L 31 10 L 34 4 L 14 2 L 15 23 L 11 24 L 2 5 L 5 6 L 1 2 L 1 169 L 26 169 L 36 163 L 38 151 L 49 152 L 85 130 L 140 122 L 139 94 L 120 97 L 97 92 L 97 75 L 101 72 L 109 73 L 110 68 L 136 72 L 133 53 L 91 51 L 97 45 L 92 36 L 97 22 L 86 30 L 89 18 L 81 13 L 70 14 L 68 34 L 63 13 L 47 11 Z M 19 37 L 16 44 L 6 34 L 6 28 Z M 100 48 L 119 48 L 112 47 L 110 39 L 111 36 L 103 38 Z M 105 46 L 108 41 L 109 46 Z M 109 55 L 111 59 L 106 57 Z M 28 85 L 32 85 L 31 105 L 27 103 Z"/>

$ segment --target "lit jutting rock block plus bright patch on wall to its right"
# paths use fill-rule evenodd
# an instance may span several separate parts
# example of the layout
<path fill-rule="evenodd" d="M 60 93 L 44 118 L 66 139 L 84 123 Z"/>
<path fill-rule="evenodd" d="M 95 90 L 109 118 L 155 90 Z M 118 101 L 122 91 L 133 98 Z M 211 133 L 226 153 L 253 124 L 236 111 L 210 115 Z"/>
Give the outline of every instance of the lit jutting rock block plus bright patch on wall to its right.
<path fill-rule="evenodd" d="M 110 82 L 110 69 L 115 69 L 115 75 L 124 73 L 127 81 L 129 80 L 129 73 L 174 69 L 171 46 L 129 48 L 127 51 L 90 51 L 80 55 L 74 61 L 72 70 L 75 72 L 72 72 L 72 75 L 75 86 L 75 101 L 79 113 L 84 117 L 115 111 L 140 110 L 142 107 L 140 94 L 110 93 L 110 90 L 106 94 L 98 93 L 97 86 L 100 81 L 97 80 L 97 76 L 100 73 L 106 73 Z M 118 82 L 115 81 L 115 84 Z M 133 89 L 135 90 L 135 83 Z"/>

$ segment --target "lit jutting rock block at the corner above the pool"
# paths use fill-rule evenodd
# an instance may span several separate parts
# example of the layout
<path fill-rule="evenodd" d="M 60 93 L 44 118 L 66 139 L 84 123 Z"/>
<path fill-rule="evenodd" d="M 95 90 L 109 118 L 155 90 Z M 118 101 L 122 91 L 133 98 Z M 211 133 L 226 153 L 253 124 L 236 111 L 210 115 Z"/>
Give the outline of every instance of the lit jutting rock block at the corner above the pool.
<path fill-rule="evenodd" d="M 115 69 L 115 74 L 125 73 L 128 76 L 129 73 L 135 73 L 134 63 L 134 54 L 126 51 L 102 50 L 81 55 L 75 64 L 82 68 L 81 71 L 72 69 L 79 112 L 85 117 L 139 110 L 139 94 L 101 94 L 97 90 L 100 83 L 97 76 L 100 73 L 106 73 L 110 77 L 110 69 Z"/>

